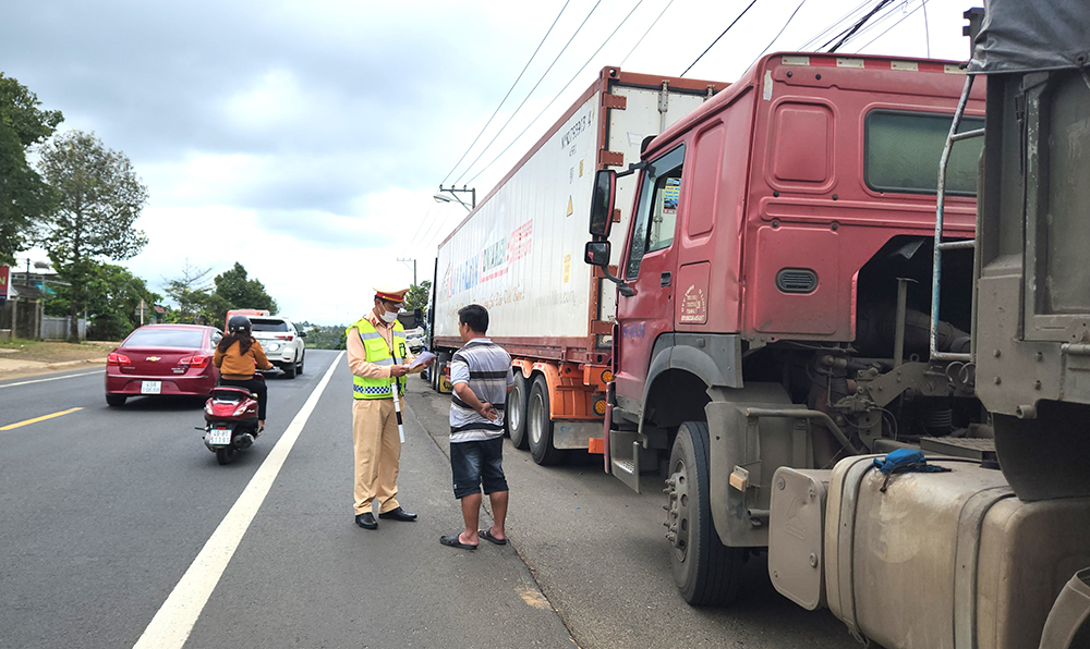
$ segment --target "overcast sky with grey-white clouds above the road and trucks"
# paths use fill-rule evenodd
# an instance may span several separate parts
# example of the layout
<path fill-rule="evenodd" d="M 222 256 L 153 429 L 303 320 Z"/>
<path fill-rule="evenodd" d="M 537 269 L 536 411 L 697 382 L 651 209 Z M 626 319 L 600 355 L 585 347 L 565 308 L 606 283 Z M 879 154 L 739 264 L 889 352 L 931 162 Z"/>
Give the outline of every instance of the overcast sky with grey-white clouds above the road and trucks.
<path fill-rule="evenodd" d="M 603 66 L 680 75 L 750 1 L 5 0 L 0 72 L 61 110 L 61 131 L 133 161 L 149 243 L 123 264 L 154 290 L 186 262 L 239 261 L 283 315 L 332 324 L 370 308 L 374 284 L 412 282 L 398 258 L 431 278 L 465 213 L 433 200 L 440 182 L 483 197 Z M 876 2 L 804 0 L 775 38 L 800 3 L 756 0 L 686 76 L 734 81 L 770 45 L 798 50 Z M 972 4 L 896 0 L 840 51 L 965 59 Z"/>

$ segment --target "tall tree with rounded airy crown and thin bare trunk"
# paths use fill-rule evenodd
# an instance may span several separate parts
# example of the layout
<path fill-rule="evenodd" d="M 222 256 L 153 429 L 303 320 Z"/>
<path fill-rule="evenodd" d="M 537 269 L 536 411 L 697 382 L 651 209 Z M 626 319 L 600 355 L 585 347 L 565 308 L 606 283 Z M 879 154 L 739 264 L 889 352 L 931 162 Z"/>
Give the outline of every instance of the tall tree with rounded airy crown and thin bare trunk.
<path fill-rule="evenodd" d="M 59 194 L 43 245 L 72 285 L 69 340 L 77 342 L 76 317 L 86 306 L 96 260 L 129 259 L 147 244 L 147 236 L 133 226 L 147 204 L 147 188 L 124 154 L 80 131 L 46 144 L 40 169 Z"/>

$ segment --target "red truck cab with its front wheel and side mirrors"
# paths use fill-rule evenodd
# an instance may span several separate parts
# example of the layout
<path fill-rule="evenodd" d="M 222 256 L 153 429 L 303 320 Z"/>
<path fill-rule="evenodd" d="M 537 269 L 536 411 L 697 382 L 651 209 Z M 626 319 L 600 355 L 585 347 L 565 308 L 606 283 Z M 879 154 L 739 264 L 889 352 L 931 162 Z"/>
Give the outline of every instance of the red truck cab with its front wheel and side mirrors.
<path fill-rule="evenodd" d="M 777 467 L 971 423 L 965 385 L 934 384 L 948 365 L 929 358 L 927 327 L 935 180 L 964 81 L 955 62 L 767 56 L 630 168 L 606 469 L 635 489 L 641 470 L 670 478 L 690 602 L 732 597 L 736 580 L 704 567 L 729 577 L 738 552 L 767 544 Z M 962 130 L 982 114 L 978 88 Z M 950 159 L 948 238 L 973 236 L 979 155 L 977 140 Z M 598 173 L 584 260 L 607 268 L 616 172 Z M 971 277 L 972 250 L 943 264 Z M 944 283 L 944 348 L 967 344 L 971 298 L 971 282 Z"/>

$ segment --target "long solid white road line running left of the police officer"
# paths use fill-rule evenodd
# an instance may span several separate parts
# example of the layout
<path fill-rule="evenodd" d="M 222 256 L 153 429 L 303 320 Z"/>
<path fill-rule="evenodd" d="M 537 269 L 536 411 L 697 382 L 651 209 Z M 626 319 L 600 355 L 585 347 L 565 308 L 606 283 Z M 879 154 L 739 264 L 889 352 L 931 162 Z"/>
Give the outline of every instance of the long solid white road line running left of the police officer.
<path fill-rule="evenodd" d="M 133 649 L 181 649 L 185 640 L 189 639 L 193 632 L 193 625 L 201 616 L 201 611 L 204 610 L 208 598 L 211 597 L 213 590 L 219 583 L 219 578 L 227 570 L 227 564 L 230 563 L 231 556 L 234 555 L 239 543 L 242 542 L 242 537 L 246 534 L 246 528 L 250 527 L 254 515 L 265 502 L 265 497 L 268 495 L 272 481 L 280 473 L 280 468 L 288 458 L 288 453 L 291 452 L 295 440 L 299 439 L 299 433 L 306 425 L 311 413 L 314 412 L 314 406 L 317 405 L 318 399 L 325 391 L 329 378 L 332 377 L 334 370 L 337 369 L 343 355 L 344 352 L 341 352 L 334 359 L 332 365 L 326 370 L 314 392 L 299 409 L 295 418 L 288 425 L 288 429 L 283 431 L 280 441 L 272 446 L 268 457 L 257 468 L 257 473 L 246 485 L 242 495 L 220 522 L 216 531 L 208 538 L 196 559 L 190 564 L 189 570 L 179 579 L 178 585 L 167 596 L 167 601 L 162 602 L 147 628 L 144 629 L 144 634 L 136 640 Z"/>

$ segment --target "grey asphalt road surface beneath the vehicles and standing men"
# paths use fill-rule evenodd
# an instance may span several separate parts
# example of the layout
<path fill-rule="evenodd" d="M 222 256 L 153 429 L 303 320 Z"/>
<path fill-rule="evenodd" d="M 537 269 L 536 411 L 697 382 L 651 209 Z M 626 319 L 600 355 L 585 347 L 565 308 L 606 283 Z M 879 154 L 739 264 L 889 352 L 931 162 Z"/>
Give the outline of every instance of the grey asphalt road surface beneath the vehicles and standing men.
<path fill-rule="evenodd" d="M 0 430 L 0 646 L 136 645 L 170 616 L 175 587 L 216 549 L 209 539 L 244 509 L 281 438 L 279 451 L 294 443 L 226 570 L 204 584 L 210 596 L 182 607 L 195 619 L 185 647 L 856 646 L 827 612 L 775 593 L 760 561 L 738 605 L 685 604 L 656 481 L 635 494 L 600 456 L 546 468 L 508 445 L 511 544 L 439 546 L 461 525 L 449 397 L 419 378 L 399 500 L 421 518 L 356 527 L 343 358 L 305 424 L 289 426 L 336 358 L 312 350 L 304 375 L 270 375 L 269 429 L 229 466 L 193 429 L 202 400 L 110 408 L 101 370 L 0 382 L 0 429 L 72 411 Z"/>

